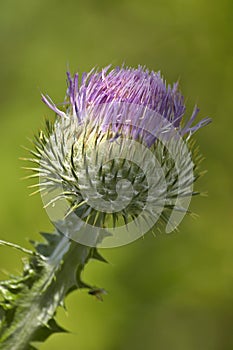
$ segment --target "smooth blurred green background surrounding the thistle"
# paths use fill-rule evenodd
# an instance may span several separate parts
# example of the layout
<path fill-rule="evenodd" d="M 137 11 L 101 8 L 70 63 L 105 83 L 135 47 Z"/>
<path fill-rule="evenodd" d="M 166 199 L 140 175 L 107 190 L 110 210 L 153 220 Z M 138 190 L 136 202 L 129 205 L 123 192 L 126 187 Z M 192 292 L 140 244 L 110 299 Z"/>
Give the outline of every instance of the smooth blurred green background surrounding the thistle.
<path fill-rule="evenodd" d="M 2 0 L 0 12 L 0 238 L 30 247 L 51 230 L 40 196 L 29 197 L 20 147 L 53 117 L 40 92 L 61 102 L 72 72 L 125 62 L 180 79 L 188 113 L 213 123 L 196 138 L 208 173 L 193 199 L 198 219 L 180 232 L 102 251 L 84 279 L 109 294 L 71 294 L 43 350 L 233 349 L 232 0 Z M 1 278 L 21 255 L 0 248 Z"/>

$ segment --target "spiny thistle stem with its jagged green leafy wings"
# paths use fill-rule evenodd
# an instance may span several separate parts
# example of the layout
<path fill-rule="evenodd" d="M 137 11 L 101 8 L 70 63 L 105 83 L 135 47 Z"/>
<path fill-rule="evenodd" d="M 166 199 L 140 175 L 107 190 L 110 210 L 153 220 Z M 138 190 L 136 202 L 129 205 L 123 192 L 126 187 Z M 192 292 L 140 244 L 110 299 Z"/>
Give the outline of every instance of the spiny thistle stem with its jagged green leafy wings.
<path fill-rule="evenodd" d="M 91 258 L 105 260 L 96 248 L 58 231 L 41 235 L 46 242 L 34 243 L 36 252 L 24 262 L 22 276 L 0 283 L 0 349 L 36 349 L 34 342 L 66 332 L 54 319 L 58 306 L 74 290 L 93 289 L 82 281 L 82 270 Z"/>

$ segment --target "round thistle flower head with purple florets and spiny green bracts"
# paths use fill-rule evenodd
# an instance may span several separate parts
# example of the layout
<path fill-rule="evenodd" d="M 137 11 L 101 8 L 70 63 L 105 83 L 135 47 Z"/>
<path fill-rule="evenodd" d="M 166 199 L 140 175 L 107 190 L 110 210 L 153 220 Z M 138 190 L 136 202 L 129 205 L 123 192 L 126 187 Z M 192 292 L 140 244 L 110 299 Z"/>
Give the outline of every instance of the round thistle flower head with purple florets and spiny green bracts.
<path fill-rule="evenodd" d="M 174 229 L 197 178 L 187 139 L 209 119 L 185 123 L 178 83 L 143 67 L 71 77 L 62 109 L 38 140 L 40 186 L 51 220 L 85 245 L 129 243 L 157 222 Z M 188 136 L 188 137 L 187 137 Z"/>

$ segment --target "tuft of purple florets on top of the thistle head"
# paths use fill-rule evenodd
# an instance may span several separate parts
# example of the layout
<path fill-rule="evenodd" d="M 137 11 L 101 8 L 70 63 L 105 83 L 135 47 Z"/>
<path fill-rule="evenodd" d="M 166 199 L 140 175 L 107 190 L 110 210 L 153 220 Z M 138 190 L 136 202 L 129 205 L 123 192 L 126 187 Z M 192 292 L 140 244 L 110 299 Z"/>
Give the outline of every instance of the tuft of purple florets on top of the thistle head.
<path fill-rule="evenodd" d="M 127 126 L 133 125 L 131 135 L 137 138 L 141 130 L 145 129 L 151 130 L 152 135 L 155 134 L 156 128 L 160 127 L 156 115 L 175 128 L 181 136 L 193 134 L 210 122 L 209 118 L 205 118 L 193 126 L 199 112 L 195 106 L 190 119 L 186 124 L 182 123 L 186 107 L 178 90 L 178 82 L 173 86 L 166 85 L 160 72 L 155 73 L 145 67 L 134 69 L 122 66 L 110 70 L 110 66 L 107 66 L 101 71 L 93 69 L 89 73 L 83 73 L 80 82 L 77 73 L 72 78 L 68 72 L 67 78 L 69 106 L 66 113 L 58 109 L 49 97 L 42 96 L 42 100 L 57 115 L 76 117 L 80 123 L 85 121 L 87 115 L 91 115 L 92 121 L 100 122 L 103 129 L 104 126 L 113 125 L 112 129 L 116 133 L 119 129 L 128 130 Z M 147 112 L 144 113 L 143 120 L 139 121 L 145 109 Z M 152 135 L 148 132 L 143 135 L 148 146 L 155 140 Z"/>

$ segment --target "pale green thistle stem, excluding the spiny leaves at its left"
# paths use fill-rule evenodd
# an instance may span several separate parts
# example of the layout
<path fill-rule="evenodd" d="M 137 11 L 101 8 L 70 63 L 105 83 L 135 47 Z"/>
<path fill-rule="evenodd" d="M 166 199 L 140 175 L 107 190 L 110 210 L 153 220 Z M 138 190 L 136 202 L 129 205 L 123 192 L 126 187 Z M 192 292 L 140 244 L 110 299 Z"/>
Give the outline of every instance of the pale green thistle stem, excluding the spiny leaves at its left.
<path fill-rule="evenodd" d="M 30 289 L 17 298 L 10 326 L 0 329 L 0 349 L 32 349 L 30 342 L 37 340 L 44 328 L 50 333 L 58 331 L 49 330 L 49 321 L 69 291 L 82 287 L 80 273 L 92 249 L 61 236 L 53 253 L 40 261 L 40 271 Z"/>

